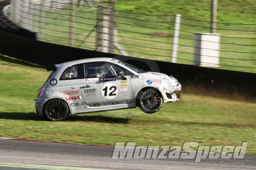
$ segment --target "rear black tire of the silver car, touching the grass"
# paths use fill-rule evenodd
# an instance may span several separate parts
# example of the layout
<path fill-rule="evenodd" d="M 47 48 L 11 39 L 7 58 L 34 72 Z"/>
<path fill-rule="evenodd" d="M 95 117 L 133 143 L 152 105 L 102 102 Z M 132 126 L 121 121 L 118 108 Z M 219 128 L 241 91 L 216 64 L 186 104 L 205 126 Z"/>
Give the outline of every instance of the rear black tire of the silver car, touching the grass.
<path fill-rule="evenodd" d="M 67 103 L 61 99 L 51 99 L 44 105 L 44 116 L 51 121 L 63 121 L 68 112 Z"/>

